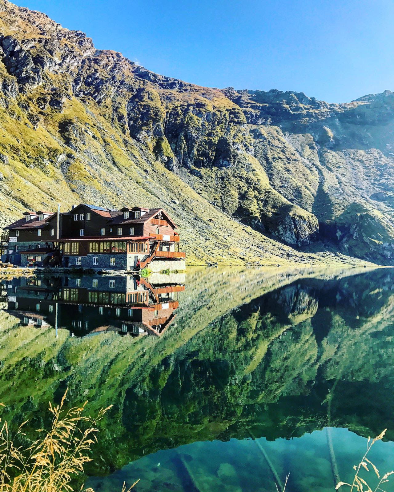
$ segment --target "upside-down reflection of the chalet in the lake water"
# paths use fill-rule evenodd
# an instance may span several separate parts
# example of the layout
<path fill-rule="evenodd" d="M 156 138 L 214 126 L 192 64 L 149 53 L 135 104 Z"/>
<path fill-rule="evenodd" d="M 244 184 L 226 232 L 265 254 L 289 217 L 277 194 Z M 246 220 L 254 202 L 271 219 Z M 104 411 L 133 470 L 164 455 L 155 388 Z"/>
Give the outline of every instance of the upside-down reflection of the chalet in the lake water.
<path fill-rule="evenodd" d="M 22 325 L 68 329 L 70 336 L 102 332 L 160 336 L 173 323 L 184 275 L 27 277 L 2 281 L 7 311 Z"/>

